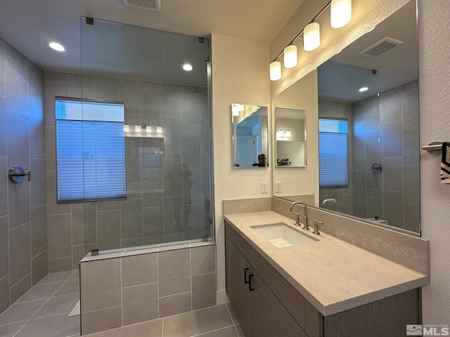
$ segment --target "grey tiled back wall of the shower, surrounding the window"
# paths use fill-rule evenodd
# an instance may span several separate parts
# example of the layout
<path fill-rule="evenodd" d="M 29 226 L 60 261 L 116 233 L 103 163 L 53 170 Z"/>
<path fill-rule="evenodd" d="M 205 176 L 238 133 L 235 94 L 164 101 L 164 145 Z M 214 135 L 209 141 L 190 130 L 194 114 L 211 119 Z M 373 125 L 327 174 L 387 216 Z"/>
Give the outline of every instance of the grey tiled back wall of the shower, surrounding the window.
<path fill-rule="evenodd" d="M 55 96 L 124 102 L 131 131 L 125 138 L 126 201 L 56 204 Z M 94 248 L 210 236 L 206 88 L 45 72 L 45 98 L 49 271 L 77 268 Z M 136 124 L 153 126 L 153 133 L 134 133 Z M 161 134 L 155 126 L 162 126 Z"/>

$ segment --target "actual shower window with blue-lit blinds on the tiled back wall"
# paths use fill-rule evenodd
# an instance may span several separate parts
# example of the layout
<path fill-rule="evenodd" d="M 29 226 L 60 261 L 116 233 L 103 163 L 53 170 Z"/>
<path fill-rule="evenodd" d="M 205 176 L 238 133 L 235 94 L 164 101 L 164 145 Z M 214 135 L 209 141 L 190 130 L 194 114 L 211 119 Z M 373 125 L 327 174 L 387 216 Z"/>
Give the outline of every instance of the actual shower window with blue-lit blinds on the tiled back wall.
<path fill-rule="evenodd" d="M 56 98 L 58 204 L 124 200 L 124 105 Z"/>

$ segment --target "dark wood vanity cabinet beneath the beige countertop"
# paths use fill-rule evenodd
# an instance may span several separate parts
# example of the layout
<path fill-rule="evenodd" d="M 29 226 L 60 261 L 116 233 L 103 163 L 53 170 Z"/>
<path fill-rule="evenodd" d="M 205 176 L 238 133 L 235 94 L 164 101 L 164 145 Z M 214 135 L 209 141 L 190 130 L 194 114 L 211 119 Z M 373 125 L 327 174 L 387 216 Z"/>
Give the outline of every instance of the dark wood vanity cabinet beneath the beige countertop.
<path fill-rule="evenodd" d="M 225 234 L 226 292 L 245 337 L 398 337 L 422 322 L 420 289 L 324 317 L 228 223 Z"/>

